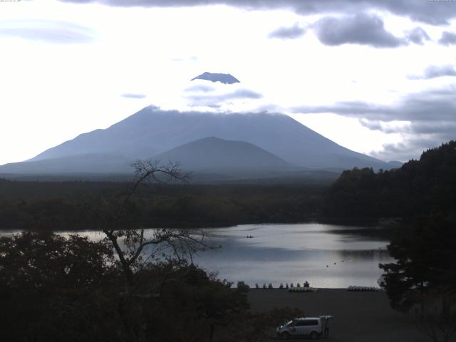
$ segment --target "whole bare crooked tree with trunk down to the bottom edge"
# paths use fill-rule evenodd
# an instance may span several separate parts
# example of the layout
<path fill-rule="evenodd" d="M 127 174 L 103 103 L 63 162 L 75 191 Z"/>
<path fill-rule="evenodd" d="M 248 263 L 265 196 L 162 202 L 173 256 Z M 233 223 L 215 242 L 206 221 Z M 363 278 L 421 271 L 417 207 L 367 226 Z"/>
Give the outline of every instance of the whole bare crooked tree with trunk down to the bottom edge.
<path fill-rule="evenodd" d="M 140 271 L 150 266 L 157 255 L 173 259 L 172 263 L 179 265 L 188 258 L 193 262 L 193 254 L 211 247 L 206 243 L 202 231 L 167 228 L 145 230 L 134 214 L 134 203 L 141 199 L 140 190 L 147 182 L 187 182 L 190 174 L 182 172 L 179 165 L 172 162 L 163 166 L 157 160 L 139 160 L 132 166 L 135 167 L 135 180 L 127 190 L 118 195 L 99 197 L 95 202 L 83 202 L 86 209 L 98 218 L 105 241 L 115 250 L 125 276 L 125 292 L 120 294 L 118 305 L 125 336 L 119 337 L 125 341 L 142 342 L 146 339 L 148 324 L 143 315 L 143 301 L 151 298 L 154 282 L 160 291 L 169 279 L 166 274 L 164 280 L 151 279 L 150 275 L 140 275 Z"/>

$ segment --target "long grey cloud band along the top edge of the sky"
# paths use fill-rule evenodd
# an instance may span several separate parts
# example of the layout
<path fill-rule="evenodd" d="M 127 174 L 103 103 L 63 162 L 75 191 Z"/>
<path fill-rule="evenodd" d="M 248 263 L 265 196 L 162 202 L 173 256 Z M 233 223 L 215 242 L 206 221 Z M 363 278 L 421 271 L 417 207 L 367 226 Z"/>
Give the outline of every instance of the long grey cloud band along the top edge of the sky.
<path fill-rule="evenodd" d="M 111 6 L 204 6 L 227 4 L 243 9 L 290 9 L 297 14 L 356 13 L 368 9 L 390 11 L 427 24 L 448 24 L 456 17 L 453 1 L 427 0 L 61 0 L 86 4 L 97 2 Z"/>

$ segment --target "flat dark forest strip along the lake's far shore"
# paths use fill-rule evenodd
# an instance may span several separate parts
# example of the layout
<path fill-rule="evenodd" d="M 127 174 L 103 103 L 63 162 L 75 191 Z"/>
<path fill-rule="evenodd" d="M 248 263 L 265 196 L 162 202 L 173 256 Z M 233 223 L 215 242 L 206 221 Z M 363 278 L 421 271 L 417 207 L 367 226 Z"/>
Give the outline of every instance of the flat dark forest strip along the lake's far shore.
<path fill-rule="evenodd" d="M 0 180 L 1 229 L 93 229 L 86 204 L 116 197 L 127 182 Z M 326 185 L 142 185 L 130 214 L 145 227 L 306 222 L 321 214 Z"/>

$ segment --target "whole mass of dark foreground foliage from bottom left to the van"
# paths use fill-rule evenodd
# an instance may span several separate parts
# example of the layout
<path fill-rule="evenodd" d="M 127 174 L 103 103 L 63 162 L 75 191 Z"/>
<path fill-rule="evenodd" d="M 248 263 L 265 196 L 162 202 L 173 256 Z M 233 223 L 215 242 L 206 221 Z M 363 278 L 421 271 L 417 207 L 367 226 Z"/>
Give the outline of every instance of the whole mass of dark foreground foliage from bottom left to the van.
<path fill-rule="evenodd" d="M 2 341 L 261 341 L 299 315 L 252 314 L 248 289 L 186 261 L 135 269 L 134 289 L 104 241 L 23 232 L 0 238 Z"/>

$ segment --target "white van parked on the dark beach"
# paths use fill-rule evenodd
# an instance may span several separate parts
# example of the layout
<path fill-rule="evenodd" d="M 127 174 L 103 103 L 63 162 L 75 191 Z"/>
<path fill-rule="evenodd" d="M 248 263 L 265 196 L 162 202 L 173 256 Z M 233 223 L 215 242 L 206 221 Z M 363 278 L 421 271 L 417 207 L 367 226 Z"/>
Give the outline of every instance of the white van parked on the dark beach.
<path fill-rule="evenodd" d="M 312 340 L 316 340 L 323 335 L 324 320 L 330 318 L 333 316 L 294 318 L 293 321 L 279 326 L 276 330 L 277 335 L 284 339 L 310 337 Z"/>

